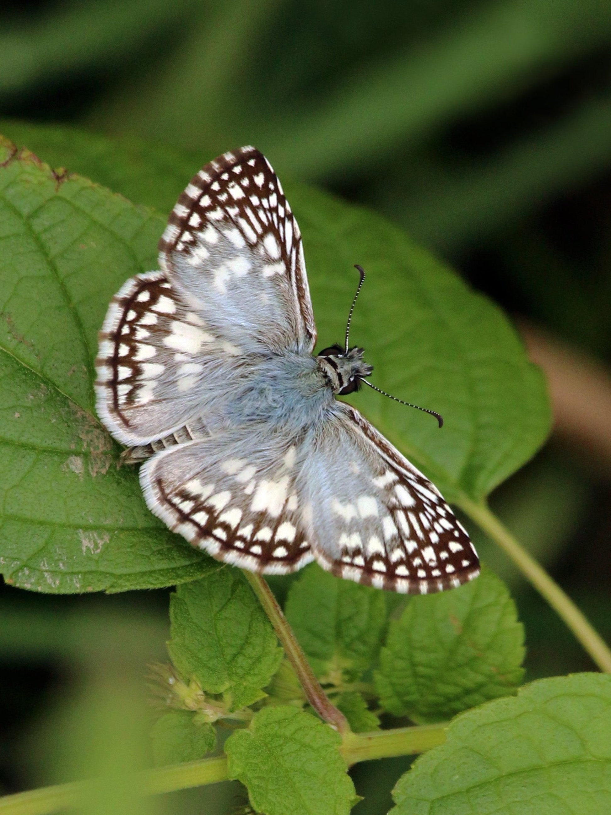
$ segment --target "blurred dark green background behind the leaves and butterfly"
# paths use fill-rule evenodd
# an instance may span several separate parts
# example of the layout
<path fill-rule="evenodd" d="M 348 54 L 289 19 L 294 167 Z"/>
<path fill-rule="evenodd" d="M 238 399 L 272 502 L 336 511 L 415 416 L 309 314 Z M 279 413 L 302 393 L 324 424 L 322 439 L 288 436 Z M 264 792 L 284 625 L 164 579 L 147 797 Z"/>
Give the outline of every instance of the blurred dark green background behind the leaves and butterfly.
<path fill-rule="evenodd" d="M 202 162 L 254 143 L 281 177 L 400 224 L 520 324 L 547 331 L 560 356 L 598 360 L 572 363 L 591 390 L 558 377 L 555 399 L 571 402 L 569 419 L 558 407 L 550 443 L 492 504 L 608 640 L 611 443 L 604 416 L 596 426 L 587 416 L 592 399 L 600 411 L 611 403 L 610 80 L 608 0 L 0 7 L 0 117 L 141 137 Z M 475 537 L 512 586 L 528 678 L 592 669 L 543 601 Z M 166 592 L 53 598 L 2 587 L 2 791 L 125 769 L 115 747 L 138 753 L 134 711 L 166 637 Z M 359 765 L 367 800 L 355 812 L 385 813 L 407 764 Z M 110 786 L 115 798 L 98 796 L 88 812 L 213 815 L 244 803 L 239 785 L 148 804 Z"/>

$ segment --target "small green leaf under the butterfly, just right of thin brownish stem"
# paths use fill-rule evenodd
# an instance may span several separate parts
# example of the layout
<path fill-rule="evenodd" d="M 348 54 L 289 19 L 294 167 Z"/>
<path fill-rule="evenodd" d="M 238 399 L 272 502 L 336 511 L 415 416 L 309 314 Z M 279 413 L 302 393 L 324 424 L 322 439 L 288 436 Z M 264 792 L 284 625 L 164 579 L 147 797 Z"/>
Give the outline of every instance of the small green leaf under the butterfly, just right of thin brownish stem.
<path fill-rule="evenodd" d="M 377 589 L 312 564 L 291 585 L 284 611 L 318 676 L 340 685 L 342 675 L 354 680 L 376 659 L 386 623 Z"/>

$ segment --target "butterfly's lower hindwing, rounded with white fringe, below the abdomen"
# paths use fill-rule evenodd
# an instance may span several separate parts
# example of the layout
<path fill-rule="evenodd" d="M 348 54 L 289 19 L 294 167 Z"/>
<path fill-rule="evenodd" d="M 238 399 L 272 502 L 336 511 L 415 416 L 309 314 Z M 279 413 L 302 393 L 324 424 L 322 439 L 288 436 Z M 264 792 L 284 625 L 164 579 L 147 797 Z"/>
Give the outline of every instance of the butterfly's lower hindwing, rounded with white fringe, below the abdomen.
<path fill-rule="evenodd" d="M 228 430 L 157 453 L 140 482 L 152 512 L 193 546 L 284 575 L 313 560 L 296 492 L 297 452 L 283 434 L 266 438 L 265 427 Z"/>

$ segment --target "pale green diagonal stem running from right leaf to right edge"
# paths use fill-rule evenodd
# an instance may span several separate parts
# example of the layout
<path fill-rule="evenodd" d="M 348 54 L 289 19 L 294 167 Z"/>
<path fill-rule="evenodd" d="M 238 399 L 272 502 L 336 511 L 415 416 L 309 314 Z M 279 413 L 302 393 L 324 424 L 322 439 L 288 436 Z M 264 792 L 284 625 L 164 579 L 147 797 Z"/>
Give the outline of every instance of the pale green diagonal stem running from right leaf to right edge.
<path fill-rule="evenodd" d="M 547 571 L 543 569 L 543 566 L 539 566 L 534 557 L 531 557 L 521 547 L 511 532 L 503 526 L 499 518 L 490 511 L 486 504 L 476 504 L 474 501 L 464 498 L 460 500 L 459 506 L 511 557 L 522 574 L 525 575 L 525 578 L 530 581 L 538 593 L 547 600 L 552 609 L 565 621 L 578 641 L 581 642 L 583 648 L 587 650 L 596 665 L 600 667 L 600 670 L 611 673 L 611 650 L 609 645 L 592 628 L 586 615 L 575 606 L 570 597 L 552 580 Z"/>

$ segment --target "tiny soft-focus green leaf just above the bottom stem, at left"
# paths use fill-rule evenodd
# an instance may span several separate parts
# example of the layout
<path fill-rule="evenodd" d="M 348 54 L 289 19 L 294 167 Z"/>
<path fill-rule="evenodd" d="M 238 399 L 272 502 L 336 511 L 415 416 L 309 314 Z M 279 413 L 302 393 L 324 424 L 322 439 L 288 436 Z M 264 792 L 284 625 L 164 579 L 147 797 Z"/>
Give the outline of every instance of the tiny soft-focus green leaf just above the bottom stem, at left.
<path fill-rule="evenodd" d="M 196 761 L 213 751 L 217 734 L 207 721 L 191 711 L 169 711 L 151 729 L 153 759 L 157 767 Z"/>

